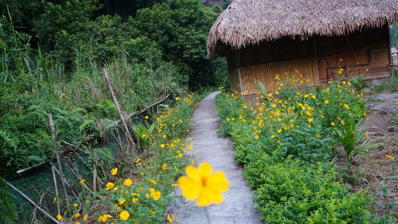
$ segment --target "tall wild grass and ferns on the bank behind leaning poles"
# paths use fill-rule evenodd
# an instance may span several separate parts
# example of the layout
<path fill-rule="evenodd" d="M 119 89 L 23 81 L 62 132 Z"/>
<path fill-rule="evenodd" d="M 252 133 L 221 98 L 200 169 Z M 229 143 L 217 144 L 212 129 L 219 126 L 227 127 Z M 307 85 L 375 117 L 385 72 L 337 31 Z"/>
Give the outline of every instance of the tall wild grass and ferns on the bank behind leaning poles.
<path fill-rule="evenodd" d="M 10 16 L 11 18 L 11 16 Z M 157 54 L 144 59 L 125 50 L 107 61 L 73 48 L 72 58 L 31 49 L 29 35 L 0 18 L 0 173 L 10 173 L 53 157 L 46 114 L 52 112 L 59 141 L 101 141 L 119 117 L 101 72 L 105 66 L 123 113 L 144 108 L 166 92 L 176 93 L 176 70 Z M 90 122 L 89 125 L 82 124 Z M 117 123 L 116 123 L 117 124 Z"/>

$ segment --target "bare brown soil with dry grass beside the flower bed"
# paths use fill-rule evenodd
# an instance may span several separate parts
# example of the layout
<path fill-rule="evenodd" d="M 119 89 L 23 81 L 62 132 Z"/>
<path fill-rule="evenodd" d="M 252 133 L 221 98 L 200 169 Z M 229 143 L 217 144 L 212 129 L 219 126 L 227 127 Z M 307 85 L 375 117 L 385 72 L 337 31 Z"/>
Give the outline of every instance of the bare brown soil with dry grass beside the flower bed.
<path fill-rule="evenodd" d="M 384 142 L 384 145 L 366 154 L 357 155 L 349 173 L 354 173 L 358 178 L 352 190 L 368 190 L 373 197 L 374 212 L 382 215 L 384 211 L 378 210 L 377 203 L 398 201 L 398 93 L 369 97 L 368 109 L 368 115 L 363 122 L 368 125 L 368 137 Z M 389 159 L 386 155 L 395 159 Z M 381 193 L 381 185 L 386 185 L 388 189 L 386 198 Z M 398 212 L 398 207 L 392 210 Z"/>

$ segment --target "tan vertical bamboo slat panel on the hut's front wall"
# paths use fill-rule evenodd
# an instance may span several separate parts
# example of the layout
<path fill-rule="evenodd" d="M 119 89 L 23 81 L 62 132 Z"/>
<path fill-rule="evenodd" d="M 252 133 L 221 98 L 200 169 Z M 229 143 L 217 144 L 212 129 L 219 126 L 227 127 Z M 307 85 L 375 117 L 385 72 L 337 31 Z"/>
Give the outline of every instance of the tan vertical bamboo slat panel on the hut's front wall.
<path fill-rule="evenodd" d="M 274 84 L 276 75 L 285 77 L 285 73 L 293 74 L 296 70 L 305 79 L 310 79 L 312 86 L 319 84 L 314 57 L 242 66 L 240 69 L 242 90 L 245 95 L 257 94 L 260 91 L 256 81 L 262 81 L 266 91 L 271 92 L 274 90 L 275 85 L 271 84 Z"/>

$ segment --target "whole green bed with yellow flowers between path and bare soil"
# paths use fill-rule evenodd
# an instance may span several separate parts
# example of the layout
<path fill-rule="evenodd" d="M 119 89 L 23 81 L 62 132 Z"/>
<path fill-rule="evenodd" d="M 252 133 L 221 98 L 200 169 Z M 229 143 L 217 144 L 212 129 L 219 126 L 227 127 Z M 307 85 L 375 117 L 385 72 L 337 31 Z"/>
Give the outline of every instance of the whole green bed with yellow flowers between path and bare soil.
<path fill-rule="evenodd" d="M 216 96 L 220 132 L 234 140 L 255 207 L 264 223 L 369 223 L 365 191 L 350 193 L 336 178 L 332 154 L 346 116 L 366 116 L 366 101 L 347 81 L 312 88 L 276 77 L 273 92 L 248 103 L 241 94 Z"/>

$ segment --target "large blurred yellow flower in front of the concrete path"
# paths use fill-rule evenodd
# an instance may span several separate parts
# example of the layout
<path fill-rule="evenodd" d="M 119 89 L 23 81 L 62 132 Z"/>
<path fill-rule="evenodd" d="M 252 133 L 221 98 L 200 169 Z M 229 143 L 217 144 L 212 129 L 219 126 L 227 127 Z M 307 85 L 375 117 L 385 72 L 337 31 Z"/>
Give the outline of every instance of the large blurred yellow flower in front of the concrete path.
<path fill-rule="evenodd" d="M 223 172 L 212 173 L 211 165 L 203 162 L 197 169 L 187 166 L 185 173 L 187 176 L 178 179 L 184 198 L 196 199 L 199 207 L 209 206 L 210 203 L 220 204 L 224 200 L 221 193 L 228 189 L 228 181 Z"/>

